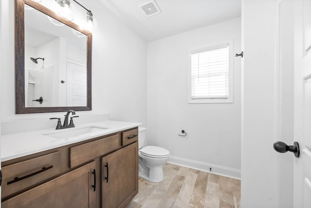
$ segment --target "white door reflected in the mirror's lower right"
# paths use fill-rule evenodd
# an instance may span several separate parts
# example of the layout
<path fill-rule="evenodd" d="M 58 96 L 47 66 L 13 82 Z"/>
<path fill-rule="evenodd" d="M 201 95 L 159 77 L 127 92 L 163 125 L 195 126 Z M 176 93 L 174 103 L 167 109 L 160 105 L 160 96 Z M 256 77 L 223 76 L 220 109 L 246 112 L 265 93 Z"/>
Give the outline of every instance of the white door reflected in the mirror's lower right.
<path fill-rule="evenodd" d="M 67 62 L 67 106 L 86 106 L 86 66 Z"/>

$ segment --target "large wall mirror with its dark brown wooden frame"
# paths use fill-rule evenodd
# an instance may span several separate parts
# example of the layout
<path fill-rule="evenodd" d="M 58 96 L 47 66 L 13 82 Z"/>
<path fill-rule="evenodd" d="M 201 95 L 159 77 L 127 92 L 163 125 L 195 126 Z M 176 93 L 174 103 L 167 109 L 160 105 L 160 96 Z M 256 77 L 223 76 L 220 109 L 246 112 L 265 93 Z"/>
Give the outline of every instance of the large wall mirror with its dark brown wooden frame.
<path fill-rule="evenodd" d="M 54 34 L 60 28 L 69 32 Z M 16 114 L 91 110 L 91 57 L 91 33 L 35 1 L 15 0 Z"/>

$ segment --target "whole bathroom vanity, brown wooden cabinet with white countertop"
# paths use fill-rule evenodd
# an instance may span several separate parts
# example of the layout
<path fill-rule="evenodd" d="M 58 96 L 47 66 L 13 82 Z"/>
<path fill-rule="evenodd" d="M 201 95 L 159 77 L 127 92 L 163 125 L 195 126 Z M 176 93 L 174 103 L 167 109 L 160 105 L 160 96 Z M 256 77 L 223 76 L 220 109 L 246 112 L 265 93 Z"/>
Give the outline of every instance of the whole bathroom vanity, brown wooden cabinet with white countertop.
<path fill-rule="evenodd" d="M 138 125 L 101 121 L 3 136 L 1 207 L 125 207 L 138 193 Z"/>

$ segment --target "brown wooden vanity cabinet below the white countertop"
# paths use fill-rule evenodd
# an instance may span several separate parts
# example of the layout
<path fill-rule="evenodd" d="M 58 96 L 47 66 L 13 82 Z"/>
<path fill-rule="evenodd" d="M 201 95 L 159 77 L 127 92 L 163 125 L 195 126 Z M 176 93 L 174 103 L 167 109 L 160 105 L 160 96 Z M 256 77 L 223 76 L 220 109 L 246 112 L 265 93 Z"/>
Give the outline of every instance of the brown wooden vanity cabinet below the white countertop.
<path fill-rule="evenodd" d="M 1 207 L 125 207 L 138 193 L 137 135 L 136 127 L 2 162 Z"/>

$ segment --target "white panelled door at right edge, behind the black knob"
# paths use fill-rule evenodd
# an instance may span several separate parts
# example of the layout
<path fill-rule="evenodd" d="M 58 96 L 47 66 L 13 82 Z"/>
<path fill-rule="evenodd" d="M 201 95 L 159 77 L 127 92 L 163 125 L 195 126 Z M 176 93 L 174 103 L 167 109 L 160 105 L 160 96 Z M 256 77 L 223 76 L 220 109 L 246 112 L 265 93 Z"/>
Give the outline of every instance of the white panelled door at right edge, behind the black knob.
<path fill-rule="evenodd" d="M 294 207 L 311 208 L 311 0 L 295 0 L 294 41 Z"/>

